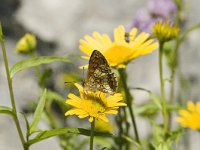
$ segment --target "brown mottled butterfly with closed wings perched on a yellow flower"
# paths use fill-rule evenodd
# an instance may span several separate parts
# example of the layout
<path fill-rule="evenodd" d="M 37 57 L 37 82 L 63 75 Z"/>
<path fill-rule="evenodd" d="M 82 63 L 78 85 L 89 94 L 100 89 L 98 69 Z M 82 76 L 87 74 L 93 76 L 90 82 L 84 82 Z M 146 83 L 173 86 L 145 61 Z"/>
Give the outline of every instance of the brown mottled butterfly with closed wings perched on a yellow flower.
<path fill-rule="evenodd" d="M 101 91 L 113 95 L 117 90 L 117 80 L 106 58 L 98 50 L 90 56 L 86 80 L 83 82 L 84 90 Z"/>

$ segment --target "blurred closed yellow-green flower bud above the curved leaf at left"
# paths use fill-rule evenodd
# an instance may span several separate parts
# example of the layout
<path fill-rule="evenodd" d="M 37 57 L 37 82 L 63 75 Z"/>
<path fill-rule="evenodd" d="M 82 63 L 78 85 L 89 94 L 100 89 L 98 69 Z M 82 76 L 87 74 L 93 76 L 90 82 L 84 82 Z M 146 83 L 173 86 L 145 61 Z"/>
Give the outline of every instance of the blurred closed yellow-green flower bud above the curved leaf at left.
<path fill-rule="evenodd" d="M 35 50 L 37 45 L 36 37 L 33 34 L 25 34 L 17 43 L 15 52 L 17 53 L 28 53 Z"/>

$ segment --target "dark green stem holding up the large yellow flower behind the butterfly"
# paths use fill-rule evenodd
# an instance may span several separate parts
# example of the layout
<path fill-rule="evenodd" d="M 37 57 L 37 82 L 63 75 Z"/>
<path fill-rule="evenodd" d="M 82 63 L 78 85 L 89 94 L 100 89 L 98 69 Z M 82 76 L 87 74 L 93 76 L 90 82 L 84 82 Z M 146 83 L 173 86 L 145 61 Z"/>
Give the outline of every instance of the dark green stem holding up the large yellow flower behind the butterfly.
<path fill-rule="evenodd" d="M 135 116 L 134 116 L 134 113 L 133 113 L 133 109 L 131 107 L 133 97 L 131 96 L 130 91 L 128 89 L 128 85 L 126 83 L 126 72 L 125 72 L 125 69 L 118 69 L 118 71 L 119 71 L 121 83 L 122 83 L 122 86 L 123 86 L 123 89 L 124 89 L 124 92 L 125 92 L 125 98 L 126 98 L 128 110 L 129 110 L 129 113 L 131 115 L 131 121 L 132 121 L 132 125 L 133 125 L 133 130 L 134 130 L 134 133 L 135 133 L 135 138 L 136 138 L 136 141 L 140 144 L 140 139 L 139 139 L 139 135 L 138 135 Z"/>

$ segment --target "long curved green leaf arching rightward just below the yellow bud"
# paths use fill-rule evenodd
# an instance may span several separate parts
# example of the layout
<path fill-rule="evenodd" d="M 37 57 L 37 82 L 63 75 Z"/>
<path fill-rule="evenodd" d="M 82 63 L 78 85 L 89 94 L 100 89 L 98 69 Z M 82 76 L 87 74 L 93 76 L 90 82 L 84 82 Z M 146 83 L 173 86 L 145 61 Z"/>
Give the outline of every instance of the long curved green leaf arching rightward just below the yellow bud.
<path fill-rule="evenodd" d="M 56 57 L 56 56 L 42 56 L 42 57 L 35 57 L 29 58 L 22 61 L 17 62 L 11 69 L 10 69 L 10 76 L 11 78 L 14 77 L 16 73 L 19 71 L 25 70 L 27 68 L 39 66 L 41 64 L 49 64 L 52 62 L 70 62 L 69 59 L 63 57 Z"/>

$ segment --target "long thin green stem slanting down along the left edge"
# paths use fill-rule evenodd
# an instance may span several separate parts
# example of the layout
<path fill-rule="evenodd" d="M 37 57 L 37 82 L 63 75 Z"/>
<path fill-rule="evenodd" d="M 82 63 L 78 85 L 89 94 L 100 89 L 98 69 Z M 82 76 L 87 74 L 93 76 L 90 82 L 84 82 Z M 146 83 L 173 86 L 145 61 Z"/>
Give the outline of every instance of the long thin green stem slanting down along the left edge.
<path fill-rule="evenodd" d="M 6 69 L 6 76 L 7 76 L 7 82 L 8 82 L 8 87 L 9 87 L 9 93 L 10 93 L 10 100 L 11 100 L 11 105 L 12 105 L 12 111 L 13 111 L 13 118 L 14 118 L 14 122 L 21 140 L 21 143 L 24 147 L 24 150 L 28 150 L 28 148 L 26 148 L 25 146 L 25 140 L 23 137 L 23 133 L 21 130 L 21 126 L 19 123 L 19 119 L 17 116 L 17 111 L 16 111 L 16 105 L 15 105 L 15 99 L 14 99 L 14 94 L 13 94 L 13 88 L 12 88 L 12 79 L 10 78 L 10 72 L 9 72 L 9 67 L 8 67 L 8 60 L 7 60 L 7 55 L 6 55 L 6 49 L 5 49 L 5 44 L 4 44 L 4 37 L 3 37 L 3 33 L 2 33 L 2 28 L 1 28 L 1 24 L 0 24 L 0 42 L 1 42 L 1 48 L 2 48 L 2 52 L 3 52 L 3 59 L 4 59 L 4 64 L 5 64 L 5 69 Z"/>

